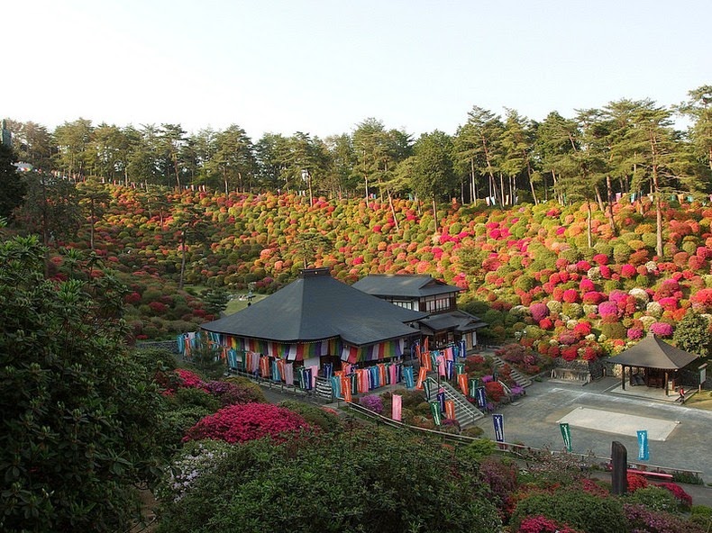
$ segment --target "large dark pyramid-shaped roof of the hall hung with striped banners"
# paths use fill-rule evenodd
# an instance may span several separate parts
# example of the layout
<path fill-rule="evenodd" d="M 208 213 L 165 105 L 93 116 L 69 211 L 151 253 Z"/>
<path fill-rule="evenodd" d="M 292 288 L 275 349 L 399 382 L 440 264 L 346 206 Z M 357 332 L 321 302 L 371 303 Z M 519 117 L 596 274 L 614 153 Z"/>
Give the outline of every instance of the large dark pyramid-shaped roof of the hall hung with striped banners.
<path fill-rule="evenodd" d="M 268 298 L 201 328 L 277 342 L 341 337 L 364 346 L 418 334 L 406 322 L 424 316 L 342 284 L 328 268 L 311 268 Z"/>

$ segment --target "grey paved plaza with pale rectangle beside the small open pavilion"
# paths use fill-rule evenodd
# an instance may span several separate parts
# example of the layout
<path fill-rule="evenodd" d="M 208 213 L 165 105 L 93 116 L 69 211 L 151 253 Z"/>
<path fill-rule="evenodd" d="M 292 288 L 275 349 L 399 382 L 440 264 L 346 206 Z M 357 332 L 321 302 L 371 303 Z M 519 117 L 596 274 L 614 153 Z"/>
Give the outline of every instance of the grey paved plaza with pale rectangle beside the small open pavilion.
<path fill-rule="evenodd" d="M 560 380 L 536 382 L 519 402 L 497 410 L 504 415 L 505 440 L 529 447 L 562 450 L 560 422 L 569 422 L 571 451 L 610 457 L 611 444 L 621 442 L 628 461 L 637 462 L 637 430 L 647 429 L 650 458 L 641 462 L 665 468 L 698 471 L 712 482 L 709 435 L 712 411 L 675 402 L 660 389 L 626 386 L 604 377 L 581 384 Z M 485 436 L 495 438 L 491 417 L 479 420 Z"/>

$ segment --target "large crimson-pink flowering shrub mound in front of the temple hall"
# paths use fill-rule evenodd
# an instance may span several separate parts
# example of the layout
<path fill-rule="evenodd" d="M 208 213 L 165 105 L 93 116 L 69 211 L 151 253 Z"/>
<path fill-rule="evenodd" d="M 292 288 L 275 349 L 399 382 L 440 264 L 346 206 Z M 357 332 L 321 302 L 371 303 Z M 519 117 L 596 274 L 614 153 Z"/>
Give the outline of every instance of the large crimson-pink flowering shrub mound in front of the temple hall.
<path fill-rule="evenodd" d="M 297 413 L 270 403 L 230 405 L 199 420 L 187 430 L 184 442 L 211 438 L 231 444 L 256 438 L 278 438 L 285 432 L 308 429 L 306 421 Z"/>

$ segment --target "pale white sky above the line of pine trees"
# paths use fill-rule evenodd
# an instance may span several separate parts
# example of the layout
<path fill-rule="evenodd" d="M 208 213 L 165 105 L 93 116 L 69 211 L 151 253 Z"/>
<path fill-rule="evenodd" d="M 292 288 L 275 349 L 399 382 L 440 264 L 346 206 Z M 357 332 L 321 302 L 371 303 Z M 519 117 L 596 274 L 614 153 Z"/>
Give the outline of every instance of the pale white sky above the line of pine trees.
<path fill-rule="evenodd" d="M 6 0 L 0 117 L 454 133 L 712 85 L 709 0 Z"/>

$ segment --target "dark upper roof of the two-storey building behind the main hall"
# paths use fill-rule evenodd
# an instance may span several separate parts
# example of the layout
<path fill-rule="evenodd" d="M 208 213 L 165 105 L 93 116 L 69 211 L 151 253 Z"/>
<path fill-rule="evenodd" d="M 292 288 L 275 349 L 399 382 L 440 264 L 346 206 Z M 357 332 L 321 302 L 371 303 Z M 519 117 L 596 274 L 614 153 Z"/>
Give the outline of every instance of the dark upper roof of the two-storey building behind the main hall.
<path fill-rule="evenodd" d="M 406 296 L 422 298 L 434 294 L 461 292 L 460 287 L 447 285 L 429 275 L 372 274 L 351 285 L 374 296 Z"/>

